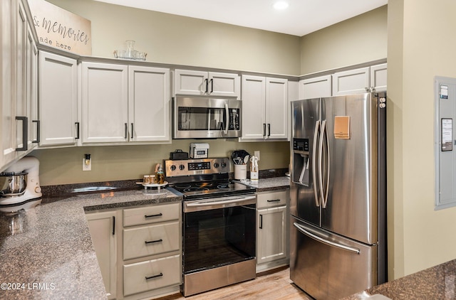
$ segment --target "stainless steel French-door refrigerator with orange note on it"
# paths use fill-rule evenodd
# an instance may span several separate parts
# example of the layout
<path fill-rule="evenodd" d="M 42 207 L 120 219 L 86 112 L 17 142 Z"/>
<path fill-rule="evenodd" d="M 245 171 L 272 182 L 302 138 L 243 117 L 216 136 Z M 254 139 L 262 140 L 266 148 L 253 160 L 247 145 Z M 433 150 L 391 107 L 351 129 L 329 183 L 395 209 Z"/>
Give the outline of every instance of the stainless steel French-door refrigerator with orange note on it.
<path fill-rule="evenodd" d="M 315 299 L 386 281 L 386 94 L 291 102 L 290 278 Z"/>

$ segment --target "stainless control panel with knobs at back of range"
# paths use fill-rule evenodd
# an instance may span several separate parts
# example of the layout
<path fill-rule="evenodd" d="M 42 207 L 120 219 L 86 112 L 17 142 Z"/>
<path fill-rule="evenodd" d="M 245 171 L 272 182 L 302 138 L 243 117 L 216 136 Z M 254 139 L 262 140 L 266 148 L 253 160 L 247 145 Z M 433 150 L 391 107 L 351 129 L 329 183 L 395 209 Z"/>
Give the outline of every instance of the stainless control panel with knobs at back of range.
<path fill-rule="evenodd" d="M 165 176 L 192 176 L 200 174 L 216 174 L 229 172 L 227 157 L 216 159 L 185 159 L 165 161 Z"/>

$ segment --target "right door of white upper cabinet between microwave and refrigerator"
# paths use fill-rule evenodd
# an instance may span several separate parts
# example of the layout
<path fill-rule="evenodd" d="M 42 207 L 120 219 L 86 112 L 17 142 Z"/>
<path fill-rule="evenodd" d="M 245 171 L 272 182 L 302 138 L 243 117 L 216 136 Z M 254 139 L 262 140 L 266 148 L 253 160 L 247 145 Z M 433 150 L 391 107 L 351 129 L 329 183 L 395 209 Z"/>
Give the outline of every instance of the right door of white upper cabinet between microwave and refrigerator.
<path fill-rule="evenodd" d="M 266 77 L 266 139 L 288 139 L 288 80 Z"/>

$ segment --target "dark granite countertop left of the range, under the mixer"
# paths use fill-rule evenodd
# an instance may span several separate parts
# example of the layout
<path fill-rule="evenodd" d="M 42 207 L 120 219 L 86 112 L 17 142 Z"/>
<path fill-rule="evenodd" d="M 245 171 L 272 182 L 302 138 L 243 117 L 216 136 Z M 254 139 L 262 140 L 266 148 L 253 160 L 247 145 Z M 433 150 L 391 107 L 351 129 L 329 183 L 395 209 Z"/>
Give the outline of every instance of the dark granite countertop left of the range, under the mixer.
<path fill-rule="evenodd" d="M 0 215 L 0 299 L 105 299 L 85 211 L 181 201 L 166 189 L 108 191 Z"/>

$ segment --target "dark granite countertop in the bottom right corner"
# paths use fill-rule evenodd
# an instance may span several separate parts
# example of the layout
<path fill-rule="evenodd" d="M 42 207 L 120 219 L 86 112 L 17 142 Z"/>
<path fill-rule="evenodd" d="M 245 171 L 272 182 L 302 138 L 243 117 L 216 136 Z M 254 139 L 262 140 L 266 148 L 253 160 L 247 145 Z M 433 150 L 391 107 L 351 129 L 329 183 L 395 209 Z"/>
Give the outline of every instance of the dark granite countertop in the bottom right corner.
<path fill-rule="evenodd" d="M 375 299 L 372 297 L 375 294 L 393 300 L 456 299 L 456 259 L 373 286 L 343 300 Z"/>

